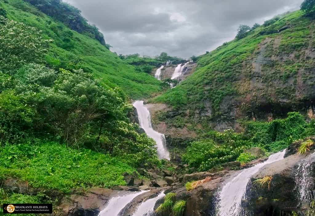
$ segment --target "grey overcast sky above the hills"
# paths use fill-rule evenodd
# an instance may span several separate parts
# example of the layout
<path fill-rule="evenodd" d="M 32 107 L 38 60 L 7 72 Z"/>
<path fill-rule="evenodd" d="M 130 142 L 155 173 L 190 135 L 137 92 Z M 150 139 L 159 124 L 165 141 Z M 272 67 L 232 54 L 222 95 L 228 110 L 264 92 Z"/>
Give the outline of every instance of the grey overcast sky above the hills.
<path fill-rule="evenodd" d="M 303 0 L 66 0 L 82 11 L 118 54 L 189 58 L 236 35 L 240 24 L 262 24 L 299 9 Z"/>

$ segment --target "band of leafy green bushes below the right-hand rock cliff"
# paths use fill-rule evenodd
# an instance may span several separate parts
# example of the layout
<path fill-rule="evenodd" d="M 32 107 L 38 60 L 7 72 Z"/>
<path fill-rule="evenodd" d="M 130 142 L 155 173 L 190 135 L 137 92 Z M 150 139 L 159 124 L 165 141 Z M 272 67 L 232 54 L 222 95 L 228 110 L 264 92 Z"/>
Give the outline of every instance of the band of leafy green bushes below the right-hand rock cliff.
<path fill-rule="evenodd" d="M 271 122 L 244 122 L 244 133 L 211 131 L 205 139 L 192 142 L 182 156 L 182 160 L 196 171 L 206 171 L 222 163 L 238 160 L 246 163 L 255 159 L 253 155 L 243 153 L 244 149 L 260 147 L 267 152 L 286 149 L 294 140 L 315 135 L 314 120 L 307 123 L 297 113 L 289 113 L 286 119 Z M 309 148 L 305 142 L 303 152 Z"/>

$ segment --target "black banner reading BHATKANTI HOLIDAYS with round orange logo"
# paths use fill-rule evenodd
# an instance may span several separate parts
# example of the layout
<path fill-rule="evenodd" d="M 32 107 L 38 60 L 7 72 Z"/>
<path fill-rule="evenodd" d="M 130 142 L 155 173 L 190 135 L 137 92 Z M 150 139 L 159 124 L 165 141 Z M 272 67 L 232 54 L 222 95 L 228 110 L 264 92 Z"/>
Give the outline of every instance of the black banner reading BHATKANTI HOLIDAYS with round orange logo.
<path fill-rule="evenodd" d="M 3 204 L 5 214 L 52 214 L 53 204 Z"/>

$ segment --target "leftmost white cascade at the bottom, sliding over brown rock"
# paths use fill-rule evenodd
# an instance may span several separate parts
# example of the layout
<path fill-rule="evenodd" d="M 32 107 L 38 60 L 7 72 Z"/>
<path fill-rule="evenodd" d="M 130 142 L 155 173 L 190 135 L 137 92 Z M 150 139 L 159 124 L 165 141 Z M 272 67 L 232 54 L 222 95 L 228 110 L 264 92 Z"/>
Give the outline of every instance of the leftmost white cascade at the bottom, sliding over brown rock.
<path fill-rule="evenodd" d="M 108 201 L 108 204 L 102 210 L 98 216 L 117 216 L 119 212 L 136 196 L 145 193 L 146 191 L 140 192 L 121 192 L 120 196 L 115 196 Z"/>

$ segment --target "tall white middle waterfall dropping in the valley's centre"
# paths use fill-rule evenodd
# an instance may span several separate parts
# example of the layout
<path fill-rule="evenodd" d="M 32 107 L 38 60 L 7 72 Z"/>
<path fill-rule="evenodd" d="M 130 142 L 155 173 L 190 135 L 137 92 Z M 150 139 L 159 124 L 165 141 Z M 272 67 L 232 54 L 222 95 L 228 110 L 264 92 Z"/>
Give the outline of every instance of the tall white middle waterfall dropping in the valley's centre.
<path fill-rule="evenodd" d="M 140 127 L 156 142 L 157 155 L 160 159 L 169 160 L 169 151 L 165 148 L 165 136 L 153 130 L 149 110 L 144 106 L 143 101 L 136 101 L 133 106 L 137 109 Z"/>

